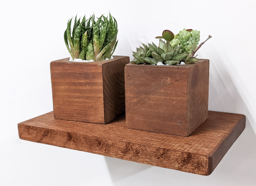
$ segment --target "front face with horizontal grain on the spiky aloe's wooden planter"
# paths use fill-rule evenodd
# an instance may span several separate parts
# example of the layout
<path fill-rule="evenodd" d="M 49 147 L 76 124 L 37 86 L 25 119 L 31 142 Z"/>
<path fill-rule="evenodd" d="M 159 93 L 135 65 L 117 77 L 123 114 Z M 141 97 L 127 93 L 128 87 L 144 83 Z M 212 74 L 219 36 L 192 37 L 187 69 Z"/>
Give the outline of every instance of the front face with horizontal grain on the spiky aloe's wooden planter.
<path fill-rule="evenodd" d="M 104 123 L 102 64 L 51 62 L 54 118 Z"/>

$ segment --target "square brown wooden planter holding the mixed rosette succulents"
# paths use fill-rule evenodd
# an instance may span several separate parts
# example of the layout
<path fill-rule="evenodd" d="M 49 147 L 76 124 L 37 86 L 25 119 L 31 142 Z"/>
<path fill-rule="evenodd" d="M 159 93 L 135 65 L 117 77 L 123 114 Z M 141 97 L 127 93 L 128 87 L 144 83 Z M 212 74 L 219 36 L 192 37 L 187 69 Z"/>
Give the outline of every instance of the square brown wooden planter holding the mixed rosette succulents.
<path fill-rule="evenodd" d="M 128 128 L 188 136 L 208 117 L 209 60 L 125 66 Z"/>

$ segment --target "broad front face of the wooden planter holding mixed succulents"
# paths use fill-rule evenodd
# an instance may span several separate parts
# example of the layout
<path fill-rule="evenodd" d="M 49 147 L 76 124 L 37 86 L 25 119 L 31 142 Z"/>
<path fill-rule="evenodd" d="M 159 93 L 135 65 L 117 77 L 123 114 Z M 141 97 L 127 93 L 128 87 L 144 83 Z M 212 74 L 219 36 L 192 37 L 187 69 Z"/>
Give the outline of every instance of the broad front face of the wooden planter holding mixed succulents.
<path fill-rule="evenodd" d="M 128 128 L 187 135 L 188 68 L 125 67 Z"/>

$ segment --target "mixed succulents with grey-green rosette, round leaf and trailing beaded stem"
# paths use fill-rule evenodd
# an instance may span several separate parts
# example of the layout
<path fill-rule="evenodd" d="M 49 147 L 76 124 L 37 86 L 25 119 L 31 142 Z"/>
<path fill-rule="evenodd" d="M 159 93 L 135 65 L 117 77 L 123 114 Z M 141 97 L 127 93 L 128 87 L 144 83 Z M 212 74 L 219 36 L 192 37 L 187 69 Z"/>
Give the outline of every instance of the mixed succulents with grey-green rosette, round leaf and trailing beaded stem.
<path fill-rule="evenodd" d="M 133 52 L 133 61 L 131 63 L 149 63 L 156 65 L 157 62 L 163 62 L 166 65 L 177 65 L 181 61 L 185 64 L 195 63 L 198 58 L 193 57 L 195 52 L 212 36 L 209 36 L 203 43 L 197 46 L 200 40 L 200 31 L 192 29 L 183 29 L 174 35 L 170 30 L 164 30 L 162 36 L 157 36 L 159 46 L 152 44 L 142 44 L 143 47 Z M 165 39 L 163 41 L 162 39 Z"/>

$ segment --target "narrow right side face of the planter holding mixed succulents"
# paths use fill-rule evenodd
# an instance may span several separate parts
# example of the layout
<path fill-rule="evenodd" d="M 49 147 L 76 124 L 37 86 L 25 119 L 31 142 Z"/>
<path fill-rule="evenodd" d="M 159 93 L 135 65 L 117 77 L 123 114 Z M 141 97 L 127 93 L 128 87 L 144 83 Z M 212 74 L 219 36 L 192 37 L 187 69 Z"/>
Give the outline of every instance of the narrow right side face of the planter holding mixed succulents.
<path fill-rule="evenodd" d="M 188 128 L 191 134 L 208 118 L 209 60 L 200 59 L 189 68 Z"/>

